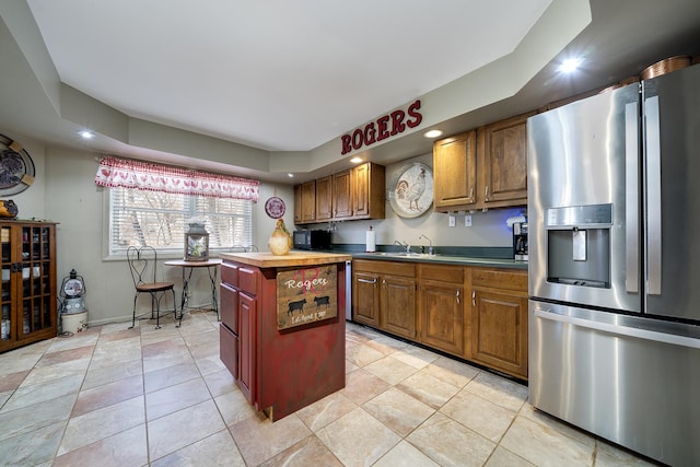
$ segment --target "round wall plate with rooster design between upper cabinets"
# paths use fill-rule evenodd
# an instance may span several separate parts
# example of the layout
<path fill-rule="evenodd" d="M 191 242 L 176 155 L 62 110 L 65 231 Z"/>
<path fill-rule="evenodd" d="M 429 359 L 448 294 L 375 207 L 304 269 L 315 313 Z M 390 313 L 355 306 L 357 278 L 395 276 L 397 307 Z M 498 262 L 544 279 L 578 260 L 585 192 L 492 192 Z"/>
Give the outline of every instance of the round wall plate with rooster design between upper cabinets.
<path fill-rule="evenodd" d="M 388 191 L 394 212 L 401 218 L 417 218 L 433 203 L 433 172 L 420 162 L 405 165 L 392 179 Z"/>

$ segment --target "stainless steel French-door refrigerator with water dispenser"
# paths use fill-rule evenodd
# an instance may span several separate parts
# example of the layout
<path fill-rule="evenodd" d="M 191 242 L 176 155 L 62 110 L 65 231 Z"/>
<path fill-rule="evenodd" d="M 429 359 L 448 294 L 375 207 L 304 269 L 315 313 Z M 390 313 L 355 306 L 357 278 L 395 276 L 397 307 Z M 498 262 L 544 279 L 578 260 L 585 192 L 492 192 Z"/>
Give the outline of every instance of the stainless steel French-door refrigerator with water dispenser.
<path fill-rule="evenodd" d="M 529 401 L 700 465 L 700 66 L 527 132 Z"/>

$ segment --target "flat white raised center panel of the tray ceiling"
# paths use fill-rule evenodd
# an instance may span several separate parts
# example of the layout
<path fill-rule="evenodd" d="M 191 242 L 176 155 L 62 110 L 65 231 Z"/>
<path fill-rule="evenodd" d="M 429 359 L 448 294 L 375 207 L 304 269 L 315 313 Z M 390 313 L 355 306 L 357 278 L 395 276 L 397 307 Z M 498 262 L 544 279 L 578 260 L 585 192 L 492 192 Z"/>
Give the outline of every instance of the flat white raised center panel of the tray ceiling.
<path fill-rule="evenodd" d="M 28 0 L 63 83 L 272 151 L 312 150 L 511 52 L 550 2 Z"/>

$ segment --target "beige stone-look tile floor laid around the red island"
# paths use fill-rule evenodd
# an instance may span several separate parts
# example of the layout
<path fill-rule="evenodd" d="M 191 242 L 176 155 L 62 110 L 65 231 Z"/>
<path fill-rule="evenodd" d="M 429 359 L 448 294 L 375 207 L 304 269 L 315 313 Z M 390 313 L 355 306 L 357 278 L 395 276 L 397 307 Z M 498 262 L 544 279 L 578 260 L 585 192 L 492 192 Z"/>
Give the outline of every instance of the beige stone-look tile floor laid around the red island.
<path fill-rule="evenodd" d="M 0 355 L 0 465 L 649 465 L 522 385 L 354 324 L 346 388 L 275 423 L 219 360 L 214 314 L 127 326 Z"/>

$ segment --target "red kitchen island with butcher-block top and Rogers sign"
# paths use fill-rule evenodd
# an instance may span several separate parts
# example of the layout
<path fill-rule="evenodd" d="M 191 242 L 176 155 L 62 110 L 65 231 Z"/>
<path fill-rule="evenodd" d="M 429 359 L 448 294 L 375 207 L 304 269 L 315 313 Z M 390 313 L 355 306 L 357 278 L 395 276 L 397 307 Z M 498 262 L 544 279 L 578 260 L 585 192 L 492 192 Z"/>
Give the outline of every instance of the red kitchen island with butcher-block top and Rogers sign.
<path fill-rule="evenodd" d="M 350 255 L 222 254 L 221 360 L 275 421 L 345 387 Z"/>

